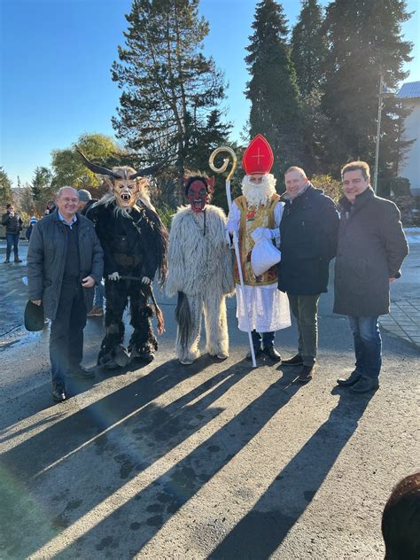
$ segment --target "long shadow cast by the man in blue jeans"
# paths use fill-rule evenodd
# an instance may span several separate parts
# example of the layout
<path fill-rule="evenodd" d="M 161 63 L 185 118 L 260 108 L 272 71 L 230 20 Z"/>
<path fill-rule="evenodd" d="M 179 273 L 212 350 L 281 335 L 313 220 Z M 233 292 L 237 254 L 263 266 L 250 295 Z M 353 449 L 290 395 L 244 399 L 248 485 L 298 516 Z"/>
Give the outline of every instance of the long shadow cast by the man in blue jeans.
<path fill-rule="evenodd" d="M 262 560 L 275 552 L 323 484 L 372 396 L 340 391 L 338 405 L 328 420 L 278 473 L 267 492 L 210 558 Z"/>

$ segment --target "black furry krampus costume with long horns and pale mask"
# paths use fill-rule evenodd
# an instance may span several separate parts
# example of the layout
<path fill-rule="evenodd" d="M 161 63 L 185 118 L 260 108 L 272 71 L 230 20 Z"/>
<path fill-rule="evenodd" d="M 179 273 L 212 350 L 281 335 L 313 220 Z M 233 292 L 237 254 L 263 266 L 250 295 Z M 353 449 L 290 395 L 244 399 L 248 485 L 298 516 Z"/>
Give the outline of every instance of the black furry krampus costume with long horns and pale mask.
<path fill-rule="evenodd" d="M 156 273 L 163 282 L 167 268 L 167 230 L 150 202 L 144 175 L 157 167 L 135 171 L 131 167 L 112 170 L 91 163 L 80 152 L 91 171 L 108 175 L 111 191 L 89 208 L 87 217 L 95 222 L 97 237 L 104 250 L 106 294 L 106 334 L 97 358 L 99 365 L 112 369 L 142 358 L 151 362 L 158 349 L 152 331 L 152 280 Z M 134 278 L 133 280 L 129 277 Z M 134 331 L 123 346 L 122 315 L 130 303 Z"/>

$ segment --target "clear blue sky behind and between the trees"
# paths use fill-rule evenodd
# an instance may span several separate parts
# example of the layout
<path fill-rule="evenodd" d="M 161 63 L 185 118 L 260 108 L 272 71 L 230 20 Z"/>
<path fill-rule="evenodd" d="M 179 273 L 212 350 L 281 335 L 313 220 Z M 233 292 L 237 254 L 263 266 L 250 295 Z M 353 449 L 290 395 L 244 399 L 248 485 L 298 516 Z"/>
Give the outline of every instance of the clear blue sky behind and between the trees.
<path fill-rule="evenodd" d="M 254 0 L 201 0 L 210 23 L 206 54 L 229 82 L 228 118 L 238 138 L 248 118 L 244 62 L 255 12 Z M 282 3 L 289 25 L 298 0 Z M 321 4 L 328 4 L 323 0 Z M 117 46 L 127 28 L 131 0 L 0 0 L 0 165 L 17 186 L 30 182 L 37 166 L 49 167 L 51 150 L 74 143 L 82 133 L 113 136 L 111 117 L 121 91 L 111 80 Z M 415 43 L 406 82 L 420 81 L 420 0 L 402 31 Z"/>

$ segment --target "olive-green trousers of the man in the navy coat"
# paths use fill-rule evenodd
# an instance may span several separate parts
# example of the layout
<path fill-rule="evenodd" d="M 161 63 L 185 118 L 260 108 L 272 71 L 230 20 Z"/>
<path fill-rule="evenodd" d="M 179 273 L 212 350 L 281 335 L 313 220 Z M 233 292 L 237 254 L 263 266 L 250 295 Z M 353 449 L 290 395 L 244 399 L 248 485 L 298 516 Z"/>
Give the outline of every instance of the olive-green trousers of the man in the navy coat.
<path fill-rule="evenodd" d="M 298 354 L 302 357 L 303 365 L 313 366 L 318 349 L 318 301 L 321 294 L 307 296 L 292 296 L 289 293 L 289 303 L 292 314 L 298 323 Z"/>

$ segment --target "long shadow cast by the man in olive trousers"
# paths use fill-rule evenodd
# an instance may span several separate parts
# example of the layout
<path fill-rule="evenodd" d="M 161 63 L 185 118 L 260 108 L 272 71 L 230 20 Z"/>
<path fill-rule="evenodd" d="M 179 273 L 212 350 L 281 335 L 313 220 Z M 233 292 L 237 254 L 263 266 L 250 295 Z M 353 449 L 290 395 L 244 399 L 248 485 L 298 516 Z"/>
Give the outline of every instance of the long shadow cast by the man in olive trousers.
<path fill-rule="evenodd" d="M 83 550 L 124 558 L 135 556 L 298 391 L 298 385 L 285 383 L 284 379 L 270 385 L 213 436 L 55 557 L 74 558 Z M 199 410 L 206 409 L 203 404 L 197 403 Z M 126 536 L 124 541 L 121 534 Z"/>

